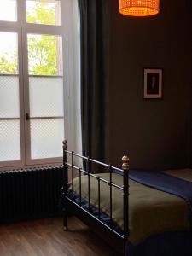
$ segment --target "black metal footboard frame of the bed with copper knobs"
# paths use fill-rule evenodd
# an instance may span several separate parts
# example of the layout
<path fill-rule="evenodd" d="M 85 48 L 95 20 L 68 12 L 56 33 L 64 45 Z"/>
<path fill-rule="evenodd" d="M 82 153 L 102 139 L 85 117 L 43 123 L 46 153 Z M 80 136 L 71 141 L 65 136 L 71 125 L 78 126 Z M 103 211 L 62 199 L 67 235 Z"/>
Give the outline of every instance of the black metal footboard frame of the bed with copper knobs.
<path fill-rule="evenodd" d="M 67 156 L 70 159 L 70 163 L 67 162 Z M 78 157 L 79 159 L 83 160 L 84 166 L 86 168 L 79 168 L 78 166 L 74 165 L 73 158 Z M 97 160 L 93 160 L 90 157 L 85 157 L 80 154 L 75 154 L 73 151 L 67 150 L 67 141 L 63 141 L 63 190 L 62 190 L 62 198 L 63 198 L 63 226 L 64 230 L 67 230 L 67 217 L 69 214 L 73 214 L 79 219 L 81 219 L 85 224 L 87 224 L 90 229 L 94 230 L 98 236 L 101 236 L 104 241 L 107 241 L 109 245 L 111 245 L 117 252 L 125 255 L 125 245 L 129 236 L 129 158 L 124 156 L 122 158 L 123 164 L 122 169 L 117 167 L 107 165 Z M 96 165 L 105 167 L 108 169 L 109 172 L 109 180 L 106 180 L 102 177 L 99 177 L 96 174 L 90 172 L 90 165 L 94 163 Z M 72 193 L 73 193 L 73 172 L 76 170 L 79 173 L 79 202 L 74 201 L 73 197 L 69 197 L 67 195 L 67 190 L 69 188 L 68 184 L 68 167 L 72 170 Z M 86 169 L 86 171 L 84 170 Z M 119 186 L 118 184 L 113 183 L 112 181 L 112 173 L 119 172 L 123 175 L 123 186 Z M 88 209 L 85 209 L 81 205 L 81 176 L 87 175 L 88 176 Z M 90 177 L 96 178 L 98 184 L 98 216 L 95 216 L 90 211 Z M 109 186 L 109 203 L 110 203 L 110 222 L 113 222 L 112 213 L 113 213 L 113 196 L 112 196 L 112 188 L 115 187 L 117 189 L 122 190 L 123 193 L 123 221 L 124 221 L 124 229 L 122 232 L 119 232 L 113 229 L 111 224 L 105 224 L 100 218 L 100 200 L 101 200 L 101 191 L 100 191 L 100 184 L 101 183 L 108 183 Z"/>

